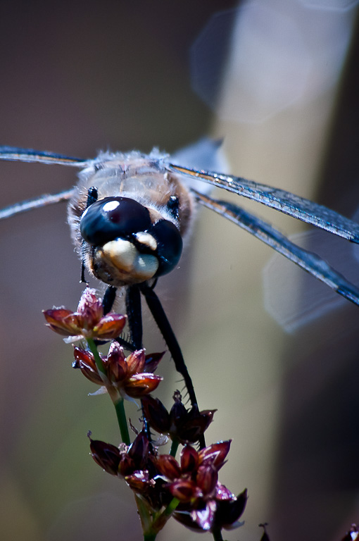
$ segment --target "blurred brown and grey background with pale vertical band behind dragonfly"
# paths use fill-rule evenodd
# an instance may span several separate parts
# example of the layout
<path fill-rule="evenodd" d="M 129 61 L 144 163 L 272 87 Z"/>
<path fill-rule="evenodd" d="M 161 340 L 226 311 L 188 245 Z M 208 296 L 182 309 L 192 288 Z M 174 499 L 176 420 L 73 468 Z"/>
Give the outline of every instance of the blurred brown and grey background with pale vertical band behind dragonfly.
<path fill-rule="evenodd" d="M 352 216 L 356 4 L 3 1 L 0 142 L 87 158 L 222 137 L 230 172 Z M 66 189 L 75 172 L 4 162 L 0 183 L 6 206 Z M 304 230 L 246 206 L 284 232 Z M 309 242 L 313 251 L 329 243 L 332 263 L 357 274 L 350 245 L 338 254 L 328 234 Z M 89 456 L 89 429 L 118 443 L 111 404 L 87 396 L 94 388 L 71 369 L 70 347 L 44 327 L 42 309 L 75 309 L 82 291 L 65 206 L 4 220 L 0 246 L 0 537 L 139 540 L 130 491 Z M 359 521 L 358 310 L 327 301 L 327 290 L 271 256 L 203 209 L 158 294 L 199 405 L 218 409 L 208 442 L 233 439 L 220 479 L 248 488 L 246 523 L 225 538 L 256 541 L 267 521 L 272 541 L 335 541 Z M 147 320 L 145 343 L 163 350 Z M 181 383 L 169 359 L 158 373 L 170 404 Z M 158 535 L 184 538 L 196 534 L 175 522 Z"/>

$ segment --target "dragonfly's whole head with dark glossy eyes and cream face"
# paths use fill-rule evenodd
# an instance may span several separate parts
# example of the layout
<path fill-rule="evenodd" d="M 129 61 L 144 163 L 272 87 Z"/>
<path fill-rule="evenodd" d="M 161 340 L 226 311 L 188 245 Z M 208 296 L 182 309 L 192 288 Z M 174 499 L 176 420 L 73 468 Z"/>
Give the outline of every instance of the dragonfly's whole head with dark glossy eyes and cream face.
<path fill-rule="evenodd" d="M 167 274 L 182 254 L 176 225 L 134 199 L 106 197 L 82 214 L 80 231 L 89 244 L 92 272 L 109 285 L 130 285 Z"/>

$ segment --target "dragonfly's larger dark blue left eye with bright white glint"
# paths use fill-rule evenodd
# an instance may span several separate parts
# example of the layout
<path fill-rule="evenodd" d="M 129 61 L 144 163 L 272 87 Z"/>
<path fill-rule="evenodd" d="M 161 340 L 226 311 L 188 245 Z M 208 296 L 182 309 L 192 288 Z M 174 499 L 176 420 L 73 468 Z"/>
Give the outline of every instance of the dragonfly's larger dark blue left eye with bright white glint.
<path fill-rule="evenodd" d="M 99 199 L 84 211 L 80 220 L 82 238 L 92 246 L 101 246 L 118 237 L 127 238 L 150 227 L 148 209 L 128 197 Z"/>

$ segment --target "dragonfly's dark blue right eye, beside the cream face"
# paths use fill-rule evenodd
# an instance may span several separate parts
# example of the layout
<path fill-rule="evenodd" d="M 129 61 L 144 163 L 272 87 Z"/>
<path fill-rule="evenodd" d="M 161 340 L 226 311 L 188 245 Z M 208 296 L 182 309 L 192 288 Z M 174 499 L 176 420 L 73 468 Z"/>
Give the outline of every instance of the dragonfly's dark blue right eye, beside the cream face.
<path fill-rule="evenodd" d="M 182 254 L 182 237 L 175 224 L 169 220 L 159 220 L 149 233 L 156 239 L 156 255 L 160 263 L 156 276 L 170 273 L 175 268 Z"/>

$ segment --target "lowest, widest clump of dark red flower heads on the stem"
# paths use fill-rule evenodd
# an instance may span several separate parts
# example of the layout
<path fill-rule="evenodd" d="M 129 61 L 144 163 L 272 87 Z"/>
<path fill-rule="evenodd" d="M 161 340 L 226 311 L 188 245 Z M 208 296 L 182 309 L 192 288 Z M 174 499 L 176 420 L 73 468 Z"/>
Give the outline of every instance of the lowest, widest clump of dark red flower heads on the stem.
<path fill-rule="evenodd" d="M 240 526 L 247 492 L 236 497 L 218 481 L 230 442 L 215 443 L 199 452 L 186 445 L 178 464 L 173 456 L 158 454 L 144 430 L 129 447 L 90 441 L 94 461 L 111 475 L 124 477 L 151 512 L 175 498 L 179 504 L 173 516 L 189 528 L 213 531 Z"/>

